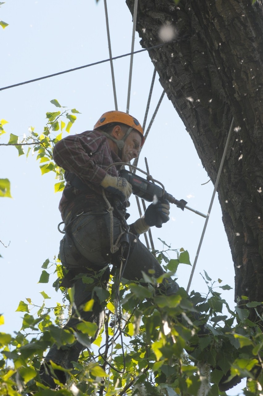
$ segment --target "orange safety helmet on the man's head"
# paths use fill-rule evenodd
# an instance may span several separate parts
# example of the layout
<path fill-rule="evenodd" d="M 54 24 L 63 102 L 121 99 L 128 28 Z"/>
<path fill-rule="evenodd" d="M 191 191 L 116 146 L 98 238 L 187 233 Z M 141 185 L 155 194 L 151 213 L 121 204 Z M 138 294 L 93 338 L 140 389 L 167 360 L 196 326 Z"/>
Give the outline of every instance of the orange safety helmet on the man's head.
<path fill-rule="evenodd" d="M 141 134 L 141 146 L 143 145 L 144 136 L 143 136 L 143 128 L 141 127 L 141 124 L 139 123 L 138 120 L 136 120 L 136 118 L 122 111 L 112 110 L 102 114 L 102 116 L 94 125 L 94 129 L 99 128 L 103 125 L 111 124 L 112 122 L 120 122 L 121 124 L 125 124 L 133 129 L 136 129 L 136 131 L 138 131 Z"/>

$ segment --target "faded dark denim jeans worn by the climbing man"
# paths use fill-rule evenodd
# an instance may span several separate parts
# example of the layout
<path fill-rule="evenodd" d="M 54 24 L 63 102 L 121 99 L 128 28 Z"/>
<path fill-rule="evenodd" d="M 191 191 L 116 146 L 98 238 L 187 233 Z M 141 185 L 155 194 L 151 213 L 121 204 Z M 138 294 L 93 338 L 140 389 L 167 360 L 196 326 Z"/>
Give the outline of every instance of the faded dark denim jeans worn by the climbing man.
<path fill-rule="evenodd" d="M 95 286 L 107 288 L 110 275 L 108 264 L 111 263 L 117 268 L 120 267 L 118 259 L 120 252 L 114 255 L 110 253 L 110 231 L 110 214 L 106 209 L 98 209 L 96 213 L 84 213 L 75 217 L 60 244 L 59 254 L 63 266 L 74 274 L 86 273 L 93 278 L 93 283 L 88 284 L 83 283 L 82 278 L 76 280 L 74 283 L 74 302 L 83 320 L 97 324 L 98 329 L 94 339 L 103 326 L 104 308 L 98 299 L 95 300 L 92 312 L 85 312 L 81 307 L 92 298 L 92 290 Z M 114 241 L 121 231 L 121 221 L 114 216 Z M 151 273 L 151 276 L 155 278 L 162 275 L 164 270 L 147 247 L 140 242 L 136 235 L 130 233 L 129 237 L 130 254 L 123 277 L 128 280 L 139 281 L 142 278 L 141 271 L 148 274 L 149 270 L 154 270 L 154 275 Z M 179 286 L 174 280 L 168 278 L 164 280 L 164 284 L 160 285 L 160 289 L 166 294 L 173 294 L 178 291 Z M 71 318 L 64 328 L 74 328 L 78 323 L 78 315 L 73 309 Z M 71 346 L 65 346 L 63 349 L 58 349 L 56 345 L 53 345 L 46 355 L 45 361 L 52 360 L 62 367 L 71 368 L 73 367 L 71 362 L 78 361 L 83 349 L 85 349 L 85 346 L 79 342 Z"/>

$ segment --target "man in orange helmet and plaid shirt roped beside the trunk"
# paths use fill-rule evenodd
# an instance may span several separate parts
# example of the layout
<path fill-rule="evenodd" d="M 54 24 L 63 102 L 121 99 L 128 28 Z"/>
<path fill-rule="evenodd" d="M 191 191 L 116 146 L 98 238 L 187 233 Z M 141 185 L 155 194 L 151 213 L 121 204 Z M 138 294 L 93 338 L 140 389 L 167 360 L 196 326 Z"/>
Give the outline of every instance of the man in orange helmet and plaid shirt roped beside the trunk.
<path fill-rule="evenodd" d="M 66 137 L 53 150 L 54 160 L 65 169 L 67 180 L 59 205 L 65 222 L 59 254 L 62 265 L 68 270 L 61 286 L 74 285 L 75 305 L 65 328 L 75 328 L 79 317 L 95 322 L 94 339 L 104 320 L 104 308 L 95 290 L 98 287 L 106 289 L 110 263 L 119 268 L 120 278 L 128 280 L 141 280 L 142 271 L 146 274 L 150 271 L 155 278 L 164 274 L 138 237 L 158 221 L 162 224 L 169 220 L 169 203 L 163 200 L 151 204 L 142 218 L 128 226 L 126 207 L 131 185 L 118 177 L 120 164 L 112 165 L 136 158 L 143 143 L 143 129 L 134 117 L 109 111 L 101 116 L 93 131 Z M 84 277 L 89 277 L 91 283 L 84 283 Z M 171 278 L 164 277 L 157 289 L 169 295 L 177 292 L 179 286 Z M 95 300 L 92 312 L 86 312 L 83 306 L 92 298 Z M 68 369 L 73 367 L 72 361 L 77 362 L 83 349 L 85 346 L 78 341 L 66 349 L 53 345 L 40 368 L 43 383 L 55 388 L 54 376 L 65 383 L 65 373 L 52 371 L 50 360 Z"/>

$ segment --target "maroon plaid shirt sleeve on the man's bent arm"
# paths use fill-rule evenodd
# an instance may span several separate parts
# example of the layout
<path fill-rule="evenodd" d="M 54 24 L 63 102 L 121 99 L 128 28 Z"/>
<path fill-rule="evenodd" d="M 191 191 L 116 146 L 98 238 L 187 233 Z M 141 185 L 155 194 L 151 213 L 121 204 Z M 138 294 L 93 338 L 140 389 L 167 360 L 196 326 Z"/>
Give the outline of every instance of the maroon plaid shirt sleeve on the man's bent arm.
<path fill-rule="evenodd" d="M 105 140 L 94 141 L 85 133 L 67 136 L 55 144 L 53 159 L 65 171 L 77 175 L 83 183 L 99 186 L 106 172 L 96 164 L 92 155 L 97 150 L 104 152 L 105 144 Z"/>

